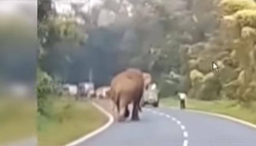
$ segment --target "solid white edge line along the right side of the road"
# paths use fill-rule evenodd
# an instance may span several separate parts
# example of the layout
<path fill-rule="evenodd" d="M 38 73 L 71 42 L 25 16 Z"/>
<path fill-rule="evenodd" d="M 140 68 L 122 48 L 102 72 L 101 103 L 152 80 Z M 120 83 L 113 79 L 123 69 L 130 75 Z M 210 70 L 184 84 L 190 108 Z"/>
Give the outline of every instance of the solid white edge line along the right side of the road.
<path fill-rule="evenodd" d="M 206 111 L 198 111 L 198 110 L 186 110 L 186 111 L 197 112 L 197 113 L 206 114 L 206 115 L 212 115 L 212 116 L 217 116 L 217 117 L 220 117 L 220 118 L 223 118 L 223 119 L 228 119 L 228 120 L 231 120 L 231 121 L 234 121 L 234 122 L 237 122 L 237 123 L 240 123 L 240 124 L 243 124 L 243 125 L 246 125 L 246 126 L 249 126 L 251 128 L 255 128 L 256 129 L 256 125 L 255 124 L 252 124 L 250 122 L 246 122 L 244 120 L 240 120 L 240 119 L 237 119 L 237 118 L 234 118 L 234 117 L 231 117 L 231 116 L 217 114 L 217 113 L 211 113 L 211 112 L 206 112 Z"/>

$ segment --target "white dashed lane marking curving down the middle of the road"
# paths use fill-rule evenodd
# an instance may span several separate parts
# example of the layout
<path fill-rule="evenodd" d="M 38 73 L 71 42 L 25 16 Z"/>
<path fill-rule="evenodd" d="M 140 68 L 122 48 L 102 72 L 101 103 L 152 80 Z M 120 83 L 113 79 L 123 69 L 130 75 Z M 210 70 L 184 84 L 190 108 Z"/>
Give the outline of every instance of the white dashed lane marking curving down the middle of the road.
<path fill-rule="evenodd" d="M 187 140 L 187 138 L 188 138 L 188 132 L 185 131 L 186 127 L 185 127 L 184 125 L 182 125 L 181 122 L 180 122 L 178 119 L 176 119 L 175 117 L 170 116 L 170 115 L 168 115 L 168 114 L 165 114 L 165 113 L 163 113 L 163 112 L 158 112 L 158 111 L 155 111 L 155 110 L 151 110 L 150 108 L 146 108 L 146 110 L 147 110 L 147 111 L 151 111 L 153 114 L 158 114 L 158 115 L 160 115 L 160 116 L 165 116 L 166 118 L 172 118 L 172 120 L 173 120 L 174 122 L 176 122 L 178 125 L 180 125 L 180 128 L 181 128 L 181 130 L 183 131 L 183 137 L 185 138 L 184 141 L 183 141 L 183 146 L 188 146 L 188 140 Z"/>

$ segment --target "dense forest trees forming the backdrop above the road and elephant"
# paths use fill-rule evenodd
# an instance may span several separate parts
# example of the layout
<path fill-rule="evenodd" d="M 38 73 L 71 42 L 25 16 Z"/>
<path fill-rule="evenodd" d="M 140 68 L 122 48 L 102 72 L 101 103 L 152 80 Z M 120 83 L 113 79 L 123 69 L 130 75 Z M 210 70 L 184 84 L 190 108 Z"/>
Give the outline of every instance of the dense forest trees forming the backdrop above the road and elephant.
<path fill-rule="evenodd" d="M 93 22 L 82 26 L 74 16 L 60 17 L 48 10 L 46 13 L 49 1 L 44 7 L 42 3 L 38 10 L 39 66 L 52 77 L 77 83 L 87 80 L 89 70 L 93 69 L 95 83 L 104 85 L 129 66 L 153 74 L 162 91 L 173 87 L 187 91 L 191 80 L 191 97 L 246 101 L 253 93 L 252 0 L 108 1 L 93 8 L 91 14 L 83 14 L 76 4 L 76 16 Z M 103 23 L 102 16 L 109 17 L 108 23 Z M 226 66 L 221 72 L 230 76 L 212 74 L 212 61 Z M 181 74 L 182 81 L 171 81 L 173 73 Z M 238 81 L 230 83 L 238 76 L 244 78 L 243 74 L 247 81 L 243 86 Z M 184 84 L 183 81 L 187 84 L 184 89 L 176 85 Z M 193 85 L 198 85 L 198 89 Z M 210 91 L 212 94 L 204 96 Z"/>

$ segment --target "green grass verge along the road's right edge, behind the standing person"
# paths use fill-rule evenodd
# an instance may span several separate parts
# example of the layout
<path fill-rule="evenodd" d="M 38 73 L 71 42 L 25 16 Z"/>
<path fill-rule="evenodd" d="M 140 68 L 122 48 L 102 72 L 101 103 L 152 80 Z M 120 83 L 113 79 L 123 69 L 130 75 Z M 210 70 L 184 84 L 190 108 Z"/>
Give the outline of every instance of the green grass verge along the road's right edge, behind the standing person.
<path fill-rule="evenodd" d="M 163 98 L 160 100 L 163 106 L 179 107 L 177 98 Z M 223 115 L 232 116 L 247 122 L 256 124 L 256 104 L 253 103 L 250 108 L 237 104 L 235 100 L 215 100 L 202 101 L 195 99 L 187 100 L 187 108 L 192 110 L 201 110 Z"/>

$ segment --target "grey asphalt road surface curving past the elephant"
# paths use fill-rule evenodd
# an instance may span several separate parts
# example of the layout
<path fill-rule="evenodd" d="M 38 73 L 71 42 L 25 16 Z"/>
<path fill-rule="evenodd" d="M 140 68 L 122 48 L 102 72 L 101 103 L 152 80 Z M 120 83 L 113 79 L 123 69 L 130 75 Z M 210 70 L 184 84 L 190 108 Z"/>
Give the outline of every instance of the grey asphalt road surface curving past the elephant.
<path fill-rule="evenodd" d="M 141 120 L 113 123 L 79 146 L 256 146 L 256 130 L 189 111 L 143 108 Z"/>

